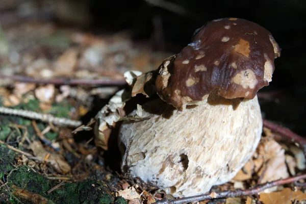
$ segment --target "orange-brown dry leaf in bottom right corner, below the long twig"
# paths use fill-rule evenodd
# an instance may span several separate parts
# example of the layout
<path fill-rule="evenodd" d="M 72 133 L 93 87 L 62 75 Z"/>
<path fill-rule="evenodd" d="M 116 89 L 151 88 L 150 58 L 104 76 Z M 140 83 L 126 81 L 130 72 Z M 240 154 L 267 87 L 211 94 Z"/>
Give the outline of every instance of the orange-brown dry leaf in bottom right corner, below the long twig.
<path fill-rule="evenodd" d="M 272 193 L 261 193 L 260 201 L 264 204 L 291 204 L 294 200 L 305 200 L 306 194 L 301 191 L 292 191 L 290 188 L 284 188 L 282 191 Z"/>

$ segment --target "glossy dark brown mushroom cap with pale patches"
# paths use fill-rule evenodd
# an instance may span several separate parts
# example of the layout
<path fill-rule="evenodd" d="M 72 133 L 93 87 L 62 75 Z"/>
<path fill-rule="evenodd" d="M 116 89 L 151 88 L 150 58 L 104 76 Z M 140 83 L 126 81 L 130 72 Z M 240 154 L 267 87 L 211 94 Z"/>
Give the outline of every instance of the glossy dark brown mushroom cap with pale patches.
<path fill-rule="evenodd" d="M 281 55 L 271 33 L 239 18 L 222 18 L 196 30 L 192 42 L 158 69 L 157 93 L 182 109 L 218 89 L 224 98 L 252 99 L 269 85 Z"/>

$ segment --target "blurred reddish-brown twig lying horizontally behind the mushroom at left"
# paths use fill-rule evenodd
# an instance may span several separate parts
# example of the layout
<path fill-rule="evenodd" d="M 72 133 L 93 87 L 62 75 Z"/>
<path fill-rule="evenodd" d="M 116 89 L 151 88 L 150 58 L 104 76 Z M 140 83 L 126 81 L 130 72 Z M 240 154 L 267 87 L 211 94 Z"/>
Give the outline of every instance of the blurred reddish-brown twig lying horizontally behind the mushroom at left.
<path fill-rule="evenodd" d="M 0 74 L 0 79 L 12 80 L 14 82 L 54 84 L 54 85 L 100 85 L 100 86 L 121 86 L 125 85 L 124 79 L 34 79 L 21 75 Z"/>

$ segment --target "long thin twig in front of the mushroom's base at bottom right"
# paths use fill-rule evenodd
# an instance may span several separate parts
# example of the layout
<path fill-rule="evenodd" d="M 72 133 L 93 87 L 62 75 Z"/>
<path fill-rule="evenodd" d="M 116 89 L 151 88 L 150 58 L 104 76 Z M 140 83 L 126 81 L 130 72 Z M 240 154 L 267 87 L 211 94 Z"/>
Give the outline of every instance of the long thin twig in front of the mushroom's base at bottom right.
<path fill-rule="evenodd" d="M 162 200 L 156 201 L 155 203 L 156 204 L 182 204 L 182 203 L 188 203 L 188 202 L 195 203 L 200 200 L 210 200 L 214 198 L 228 198 L 228 197 L 238 197 L 238 196 L 244 196 L 244 195 L 254 195 L 254 194 L 262 192 L 263 190 L 267 188 L 293 183 L 300 179 L 306 179 L 306 174 L 289 177 L 288 179 L 268 182 L 268 183 L 261 184 L 261 185 L 256 185 L 253 188 L 249 188 L 246 190 L 238 189 L 235 191 L 226 190 L 226 191 L 215 192 L 216 194 L 214 195 L 214 197 L 210 196 L 211 193 L 206 193 L 202 195 L 196 195 L 196 196 L 173 199 L 173 200 L 162 199 Z"/>

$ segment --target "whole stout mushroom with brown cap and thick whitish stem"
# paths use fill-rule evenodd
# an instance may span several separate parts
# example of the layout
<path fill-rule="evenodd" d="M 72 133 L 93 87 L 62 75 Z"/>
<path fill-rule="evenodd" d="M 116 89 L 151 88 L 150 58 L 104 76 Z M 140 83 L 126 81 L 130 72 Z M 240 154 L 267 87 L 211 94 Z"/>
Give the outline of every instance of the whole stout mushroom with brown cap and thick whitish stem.
<path fill-rule="evenodd" d="M 135 78 L 134 95 L 150 98 L 129 114 L 143 119 L 121 124 L 122 169 L 175 197 L 230 181 L 261 138 L 256 93 L 271 82 L 279 56 L 270 32 L 244 19 L 196 30 L 181 53 Z"/>

